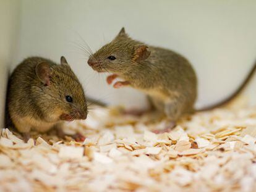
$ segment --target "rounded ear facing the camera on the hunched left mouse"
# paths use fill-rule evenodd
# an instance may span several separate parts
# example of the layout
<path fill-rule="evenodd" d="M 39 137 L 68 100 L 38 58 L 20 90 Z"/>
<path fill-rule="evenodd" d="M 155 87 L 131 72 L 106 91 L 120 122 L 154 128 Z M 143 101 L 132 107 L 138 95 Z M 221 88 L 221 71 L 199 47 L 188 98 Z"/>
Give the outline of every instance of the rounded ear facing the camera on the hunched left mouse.
<path fill-rule="evenodd" d="M 41 62 L 36 65 L 36 76 L 39 80 L 46 86 L 49 85 L 49 80 L 53 74 L 53 69 L 49 66 L 47 62 Z"/>

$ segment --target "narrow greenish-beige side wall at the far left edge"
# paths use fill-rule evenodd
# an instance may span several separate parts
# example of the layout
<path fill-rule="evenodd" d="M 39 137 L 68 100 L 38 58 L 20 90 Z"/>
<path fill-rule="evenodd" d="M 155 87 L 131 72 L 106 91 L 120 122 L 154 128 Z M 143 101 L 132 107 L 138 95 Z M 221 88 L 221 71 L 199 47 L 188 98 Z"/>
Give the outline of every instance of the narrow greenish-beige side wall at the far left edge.
<path fill-rule="evenodd" d="M 19 1 L 0 1 L 0 129 L 4 126 L 7 75 L 15 54 L 19 30 Z M 1 131 L 0 131 L 1 132 Z"/>

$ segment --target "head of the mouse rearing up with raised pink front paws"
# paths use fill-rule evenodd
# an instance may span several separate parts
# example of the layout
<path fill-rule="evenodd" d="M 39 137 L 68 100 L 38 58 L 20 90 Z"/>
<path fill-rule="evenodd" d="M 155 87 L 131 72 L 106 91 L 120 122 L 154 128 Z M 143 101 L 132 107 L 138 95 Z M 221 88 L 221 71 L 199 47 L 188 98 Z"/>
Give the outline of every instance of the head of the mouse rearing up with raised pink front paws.
<path fill-rule="evenodd" d="M 149 56 L 148 47 L 129 38 L 122 28 L 113 41 L 90 56 L 88 65 L 97 72 L 113 72 L 120 75 L 134 69 Z"/>

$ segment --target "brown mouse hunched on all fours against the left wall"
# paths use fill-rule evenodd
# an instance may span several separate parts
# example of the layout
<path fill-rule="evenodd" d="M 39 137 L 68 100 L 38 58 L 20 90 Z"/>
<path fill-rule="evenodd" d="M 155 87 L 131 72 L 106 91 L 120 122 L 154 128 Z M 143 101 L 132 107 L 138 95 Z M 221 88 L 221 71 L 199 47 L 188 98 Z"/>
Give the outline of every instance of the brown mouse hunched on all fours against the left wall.
<path fill-rule="evenodd" d="M 28 57 L 12 72 L 7 89 L 7 114 L 24 140 L 31 130 L 46 132 L 57 128 L 64 138 L 62 124 L 87 118 L 83 87 L 64 56 L 61 63 L 43 57 Z M 76 141 L 85 138 L 77 133 Z"/>

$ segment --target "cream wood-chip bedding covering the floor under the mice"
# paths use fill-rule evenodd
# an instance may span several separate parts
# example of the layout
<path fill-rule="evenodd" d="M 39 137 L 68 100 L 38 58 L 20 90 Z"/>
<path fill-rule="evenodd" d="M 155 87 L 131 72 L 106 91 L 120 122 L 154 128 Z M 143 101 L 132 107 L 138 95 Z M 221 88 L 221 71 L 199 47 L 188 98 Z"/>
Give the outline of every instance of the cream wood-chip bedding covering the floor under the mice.
<path fill-rule="evenodd" d="M 169 133 L 152 115 L 95 109 L 67 133 L 8 129 L 0 139 L 0 191 L 254 191 L 256 108 L 216 109 L 181 120 Z"/>

